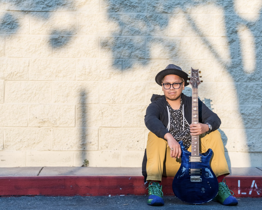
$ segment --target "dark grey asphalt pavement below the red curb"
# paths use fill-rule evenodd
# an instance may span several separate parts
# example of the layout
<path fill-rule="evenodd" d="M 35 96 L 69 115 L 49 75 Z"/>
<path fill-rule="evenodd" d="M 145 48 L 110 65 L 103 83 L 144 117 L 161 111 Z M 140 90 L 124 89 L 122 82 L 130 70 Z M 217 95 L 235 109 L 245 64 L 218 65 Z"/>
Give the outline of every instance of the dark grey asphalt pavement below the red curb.
<path fill-rule="evenodd" d="M 237 198 L 238 205 L 223 206 L 210 201 L 201 205 L 187 204 L 174 196 L 164 196 L 164 206 L 149 206 L 147 196 L 73 196 L 73 197 L 0 197 L 1 210 L 91 210 L 91 209 L 165 209 L 165 210 L 212 210 L 212 209 L 262 209 L 262 198 Z"/>

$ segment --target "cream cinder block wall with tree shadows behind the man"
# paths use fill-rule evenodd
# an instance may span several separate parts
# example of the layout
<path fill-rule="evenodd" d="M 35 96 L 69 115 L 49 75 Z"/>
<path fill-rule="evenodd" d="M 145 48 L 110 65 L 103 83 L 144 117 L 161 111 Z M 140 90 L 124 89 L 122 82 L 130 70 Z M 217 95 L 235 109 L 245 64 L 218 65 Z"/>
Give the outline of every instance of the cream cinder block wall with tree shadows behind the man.
<path fill-rule="evenodd" d="M 170 63 L 201 70 L 229 165 L 261 167 L 261 7 L 0 0 L 0 167 L 140 167 L 154 77 Z"/>

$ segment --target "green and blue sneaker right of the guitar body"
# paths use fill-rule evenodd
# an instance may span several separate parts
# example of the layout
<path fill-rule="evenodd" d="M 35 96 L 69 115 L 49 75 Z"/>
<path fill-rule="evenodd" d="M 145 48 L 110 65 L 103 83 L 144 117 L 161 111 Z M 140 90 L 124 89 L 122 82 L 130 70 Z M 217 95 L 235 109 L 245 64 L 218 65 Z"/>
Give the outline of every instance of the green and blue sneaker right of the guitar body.
<path fill-rule="evenodd" d="M 213 201 L 220 202 L 223 205 L 236 205 L 238 204 L 237 199 L 233 196 L 234 193 L 232 190 L 228 189 L 228 186 L 226 185 L 226 180 L 223 179 L 222 182 L 218 183 L 218 193 L 215 198 L 213 198 Z M 231 192 L 233 194 L 231 194 Z"/>

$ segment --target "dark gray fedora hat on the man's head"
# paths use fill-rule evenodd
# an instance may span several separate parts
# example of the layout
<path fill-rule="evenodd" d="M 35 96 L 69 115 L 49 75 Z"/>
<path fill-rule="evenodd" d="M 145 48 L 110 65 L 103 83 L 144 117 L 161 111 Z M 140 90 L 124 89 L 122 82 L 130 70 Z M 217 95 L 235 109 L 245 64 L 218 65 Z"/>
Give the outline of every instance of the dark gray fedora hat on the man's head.
<path fill-rule="evenodd" d="M 179 66 L 176 66 L 174 64 L 169 64 L 164 70 L 160 71 L 156 75 L 156 83 L 162 86 L 162 79 L 166 75 L 174 74 L 184 79 L 185 86 L 189 85 L 187 82 L 188 80 L 188 74 L 183 72 L 182 69 Z"/>

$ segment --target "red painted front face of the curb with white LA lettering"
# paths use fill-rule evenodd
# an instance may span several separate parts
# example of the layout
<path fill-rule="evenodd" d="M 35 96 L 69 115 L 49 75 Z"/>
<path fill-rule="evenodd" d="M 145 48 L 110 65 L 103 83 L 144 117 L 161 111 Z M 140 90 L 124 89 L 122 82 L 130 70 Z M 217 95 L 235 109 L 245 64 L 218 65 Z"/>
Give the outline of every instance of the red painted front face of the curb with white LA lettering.
<path fill-rule="evenodd" d="M 0 177 L 0 196 L 147 195 L 143 176 Z M 164 195 L 174 195 L 172 177 L 163 177 Z M 227 176 L 236 197 L 262 197 L 262 176 Z"/>

